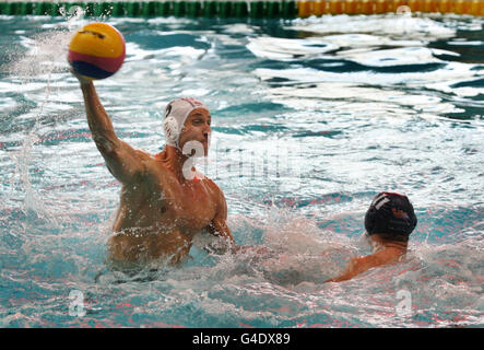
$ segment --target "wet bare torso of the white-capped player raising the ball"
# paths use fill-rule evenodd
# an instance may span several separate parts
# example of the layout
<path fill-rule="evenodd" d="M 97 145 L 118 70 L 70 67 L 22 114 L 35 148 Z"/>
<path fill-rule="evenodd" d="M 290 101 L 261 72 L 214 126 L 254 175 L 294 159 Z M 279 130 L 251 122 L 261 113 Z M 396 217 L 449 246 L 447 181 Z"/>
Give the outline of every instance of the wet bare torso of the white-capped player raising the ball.
<path fill-rule="evenodd" d="M 219 194 L 212 180 L 180 183 L 162 162 L 150 163 L 146 174 L 121 189 L 108 242 L 114 261 L 176 264 L 215 217 Z"/>

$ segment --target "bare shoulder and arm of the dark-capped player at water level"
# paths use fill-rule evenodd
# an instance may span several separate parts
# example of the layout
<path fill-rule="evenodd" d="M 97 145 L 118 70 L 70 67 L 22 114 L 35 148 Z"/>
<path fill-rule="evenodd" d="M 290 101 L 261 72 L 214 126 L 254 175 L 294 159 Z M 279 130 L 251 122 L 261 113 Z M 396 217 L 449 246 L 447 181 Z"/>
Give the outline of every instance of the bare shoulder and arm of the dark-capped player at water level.
<path fill-rule="evenodd" d="M 400 256 L 396 255 L 393 252 L 382 249 L 368 256 L 352 258 L 343 273 L 341 273 L 339 277 L 331 278 L 326 282 L 341 282 L 351 280 L 355 276 L 371 268 L 394 262 Z"/>

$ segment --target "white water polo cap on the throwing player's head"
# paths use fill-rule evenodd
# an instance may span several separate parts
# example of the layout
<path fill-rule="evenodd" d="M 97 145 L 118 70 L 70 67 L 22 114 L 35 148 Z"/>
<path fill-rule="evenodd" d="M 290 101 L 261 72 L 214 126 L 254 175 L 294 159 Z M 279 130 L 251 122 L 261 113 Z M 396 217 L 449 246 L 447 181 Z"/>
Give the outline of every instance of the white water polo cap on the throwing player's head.
<path fill-rule="evenodd" d="M 209 110 L 203 103 L 191 97 L 176 98 L 166 105 L 165 119 L 163 121 L 166 144 L 176 147 L 180 150 L 178 141 L 180 139 L 181 129 L 184 128 L 187 117 L 196 108 L 205 108 Z"/>

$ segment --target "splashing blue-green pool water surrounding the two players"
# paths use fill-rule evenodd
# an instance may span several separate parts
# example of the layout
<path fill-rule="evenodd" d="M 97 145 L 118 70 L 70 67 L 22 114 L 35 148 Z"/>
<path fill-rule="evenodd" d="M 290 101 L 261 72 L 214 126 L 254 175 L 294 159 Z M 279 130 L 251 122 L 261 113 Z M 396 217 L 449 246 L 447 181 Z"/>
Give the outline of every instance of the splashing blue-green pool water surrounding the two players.
<path fill-rule="evenodd" d="M 182 266 L 137 276 L 106 268 L 120 186 L 66 60 L 86 23 L 0 16 L 0 327 L 484 325 L 483 19 L 108 20 L 127 59 L 96 88 L 119 137 L 157 152 L 165 104 L 203 101 L 199 166 L 236 242 L 274 250 L 197 242 Z M 381 190 L 415 207 L 406 260 L 322 283 L 369 253 Z"/>

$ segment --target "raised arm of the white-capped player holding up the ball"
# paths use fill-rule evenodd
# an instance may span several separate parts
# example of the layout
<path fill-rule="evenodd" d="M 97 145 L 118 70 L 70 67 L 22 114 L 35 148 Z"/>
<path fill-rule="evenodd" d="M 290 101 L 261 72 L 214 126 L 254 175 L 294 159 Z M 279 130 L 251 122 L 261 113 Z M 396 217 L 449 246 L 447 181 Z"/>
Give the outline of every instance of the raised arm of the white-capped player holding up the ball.
<path fill-rule="evenodd" d="M 97 149 L 106 161 L 109 172 L 122 184 L 131 183 L 144 171 L 143 159 L 149 155 L 120 140 L 99 101 L 92 81 L 74 74 L 81 82 L 87 124 Z"/>

